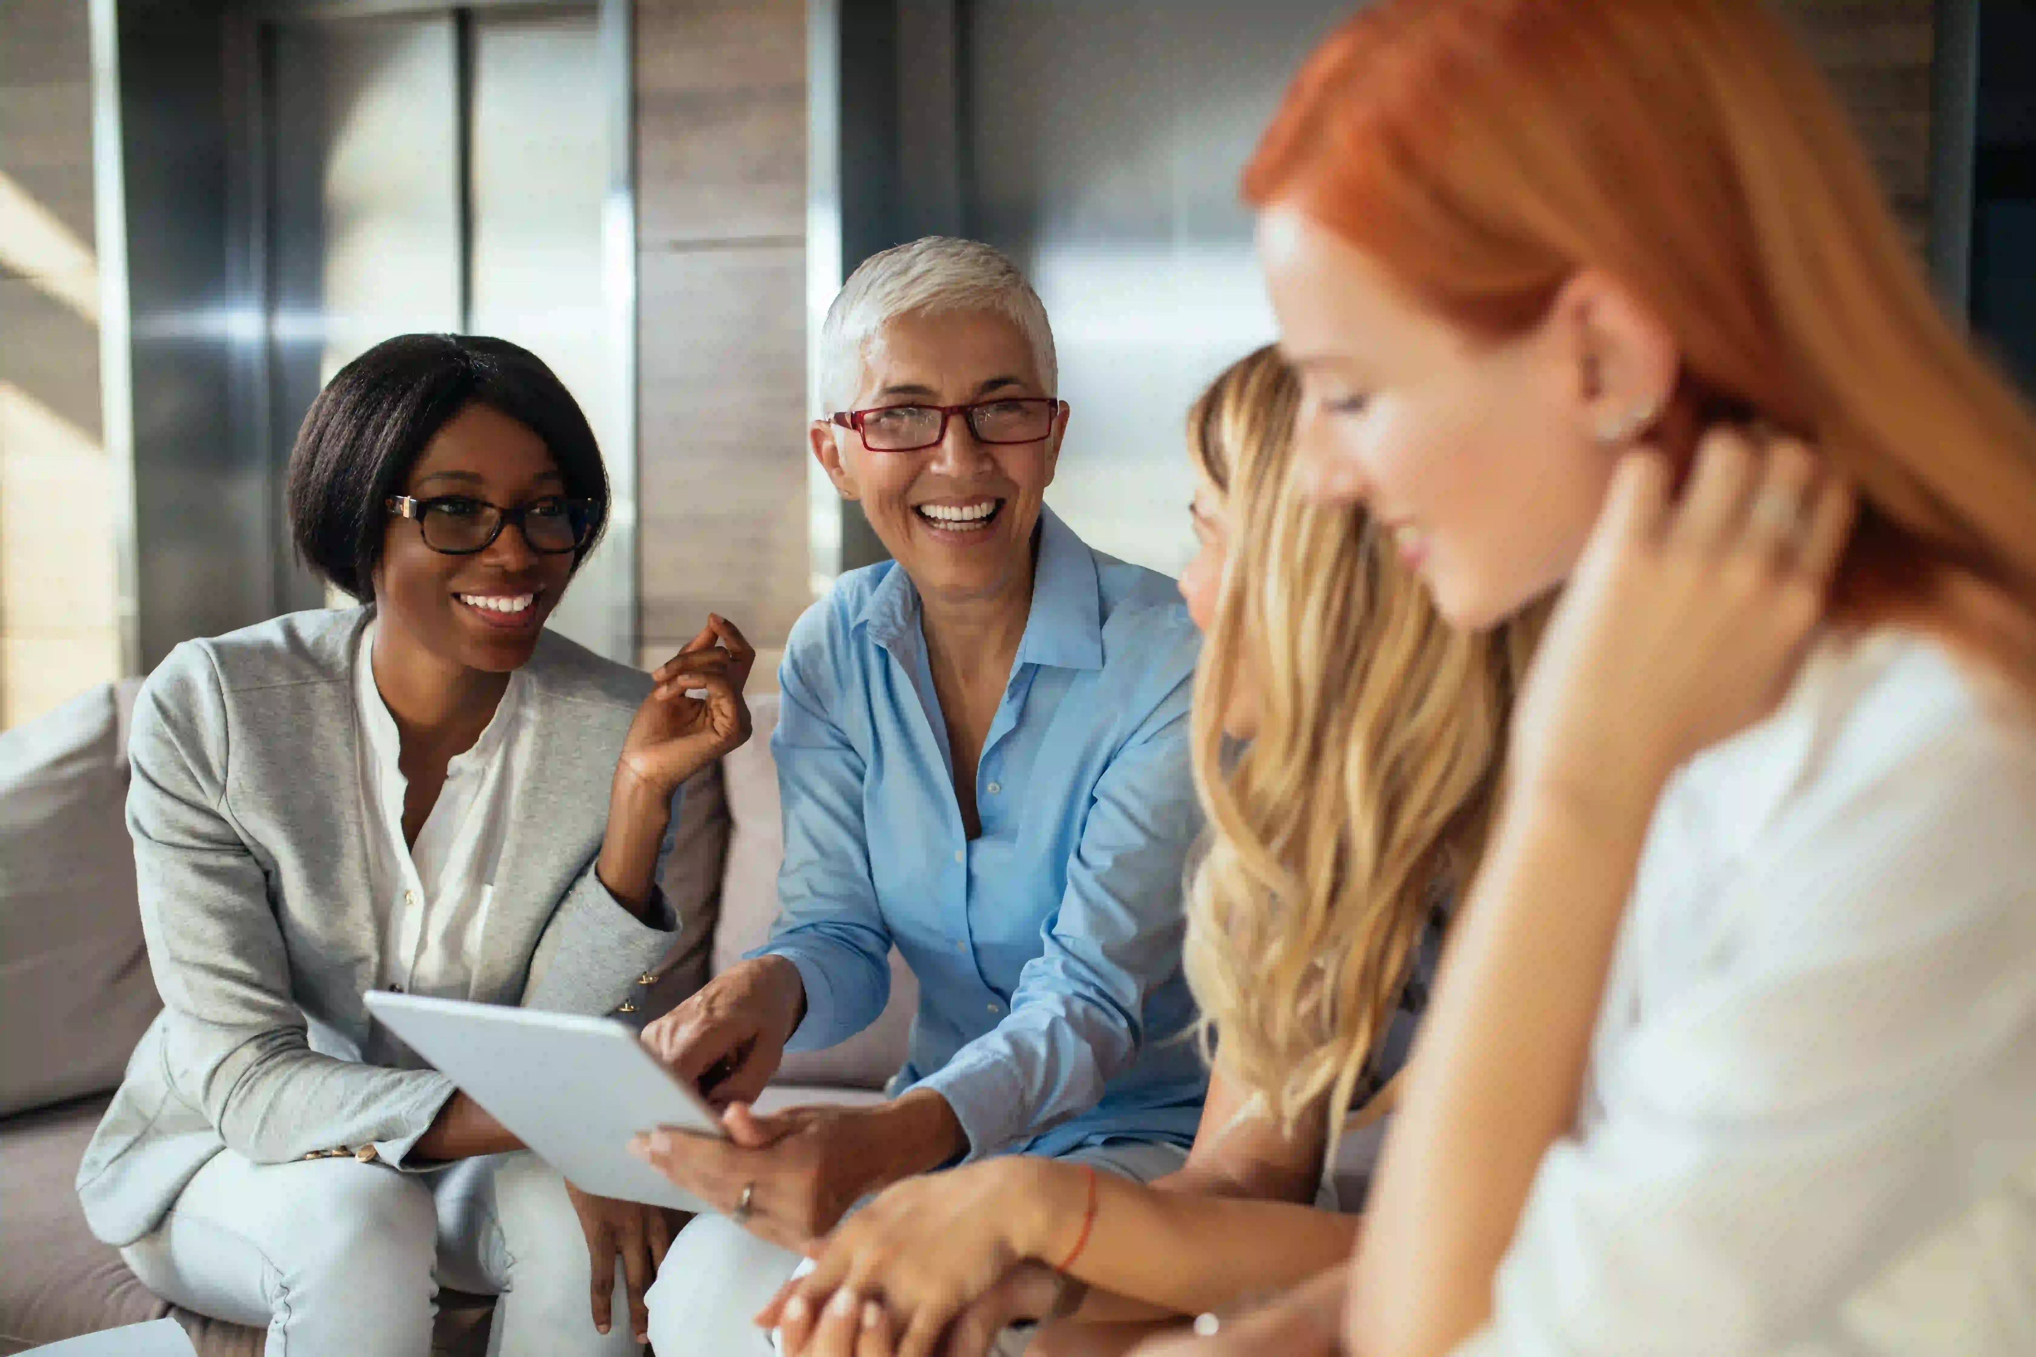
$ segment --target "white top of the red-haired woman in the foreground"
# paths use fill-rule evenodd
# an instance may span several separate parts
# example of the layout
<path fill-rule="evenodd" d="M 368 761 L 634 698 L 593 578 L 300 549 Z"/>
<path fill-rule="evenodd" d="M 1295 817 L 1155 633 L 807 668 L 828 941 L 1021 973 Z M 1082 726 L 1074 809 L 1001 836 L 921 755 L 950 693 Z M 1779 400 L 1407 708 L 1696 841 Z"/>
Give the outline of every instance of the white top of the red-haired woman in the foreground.
<path fill-rule="evenodd" d="M 1494 1353 L 2036 1353 L 2036 730 L 1942 649 L 1670 785 Z"/>

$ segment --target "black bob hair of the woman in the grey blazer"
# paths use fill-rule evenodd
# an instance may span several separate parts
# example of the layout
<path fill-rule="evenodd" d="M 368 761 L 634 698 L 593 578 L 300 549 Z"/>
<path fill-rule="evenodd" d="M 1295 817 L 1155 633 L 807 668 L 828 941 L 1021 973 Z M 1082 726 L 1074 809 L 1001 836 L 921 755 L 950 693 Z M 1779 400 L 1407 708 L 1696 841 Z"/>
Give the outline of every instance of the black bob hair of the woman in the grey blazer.
<path fill-rule="evenodd" d="M 578 570 L 609 521 L 609 472 L 578 401 L 538 354 L 472 334 L 399 334 L 334 374 L 289 454 L 297 555 L 360 602 L 375 596 L 389 513 L 423 446 L 468 405 L 487 405 L 544 439 L 566 494 L 595 503 Z"/>

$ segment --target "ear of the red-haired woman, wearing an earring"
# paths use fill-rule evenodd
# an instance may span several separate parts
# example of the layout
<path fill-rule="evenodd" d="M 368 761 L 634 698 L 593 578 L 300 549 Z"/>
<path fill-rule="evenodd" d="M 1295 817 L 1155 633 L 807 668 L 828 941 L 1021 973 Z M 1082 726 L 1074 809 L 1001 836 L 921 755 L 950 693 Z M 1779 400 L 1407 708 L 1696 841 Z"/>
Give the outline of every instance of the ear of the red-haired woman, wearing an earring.
<path fill-rule="evenodd" d="M 1600 269 L 1576 273 L 1549 309 L 1578 427 L 1627 444 L 1667 411 L 1682 370 L 1676 336 L 1639 293 Z"/>

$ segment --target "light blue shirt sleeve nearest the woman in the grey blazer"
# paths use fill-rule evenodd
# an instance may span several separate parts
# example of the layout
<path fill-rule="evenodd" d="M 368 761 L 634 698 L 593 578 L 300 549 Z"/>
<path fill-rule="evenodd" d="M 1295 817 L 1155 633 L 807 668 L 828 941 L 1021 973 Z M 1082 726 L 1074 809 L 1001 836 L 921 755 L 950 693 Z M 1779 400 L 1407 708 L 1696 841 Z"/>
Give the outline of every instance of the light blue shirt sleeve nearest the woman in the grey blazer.
<path fill-rule="evenodd" d="M 829 716 L 831 686 L 788 655 L 778 675 L 772 759 L 784 806 L 778 926 L 751 956 L 784 956 L 806 987 L 786 1050 L 837 1046 L 890 1001 L 890 930 L 869 877 L 863 757 Z"/>

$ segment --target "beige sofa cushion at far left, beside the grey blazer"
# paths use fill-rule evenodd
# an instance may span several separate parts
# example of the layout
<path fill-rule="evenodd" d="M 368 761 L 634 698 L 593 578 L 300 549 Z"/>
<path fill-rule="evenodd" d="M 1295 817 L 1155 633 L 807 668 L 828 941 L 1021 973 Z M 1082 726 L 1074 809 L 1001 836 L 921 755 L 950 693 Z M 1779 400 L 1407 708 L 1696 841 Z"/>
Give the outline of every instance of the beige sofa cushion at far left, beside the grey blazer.
<path fill-rule="evenodd" d="M 126 832 L 138 686 L 0 732 L 0 1117 L 118 1084 L 163 1007 Z"/>

